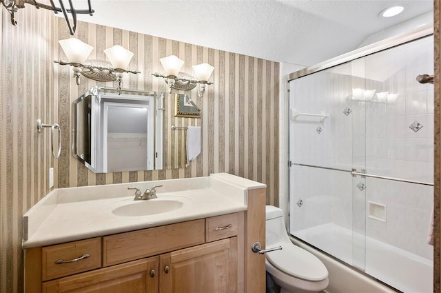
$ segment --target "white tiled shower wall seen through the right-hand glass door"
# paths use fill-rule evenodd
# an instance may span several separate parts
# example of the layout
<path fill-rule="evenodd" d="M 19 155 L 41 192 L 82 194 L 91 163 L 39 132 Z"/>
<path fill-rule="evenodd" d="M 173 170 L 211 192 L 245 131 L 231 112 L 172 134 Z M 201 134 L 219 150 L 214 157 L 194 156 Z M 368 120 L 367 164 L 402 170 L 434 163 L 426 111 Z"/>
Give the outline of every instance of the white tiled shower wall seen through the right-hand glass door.
<path fill-rule="evenodd" d="M 395 103 L 366 108 L 366 169 L 373 174 L 433 183 L 433 37 L 366 57 L 366 88 L 399 93 Z M 377 77 L 373 79 L 373 77 Z M 420 130 L 411 129 L 419 123 Z M 367 235 L 426 259 L 433 187 L 380 179 L 366 181 L 367 201 L 387 205 L 386 222 L 367 219 Z"/>

